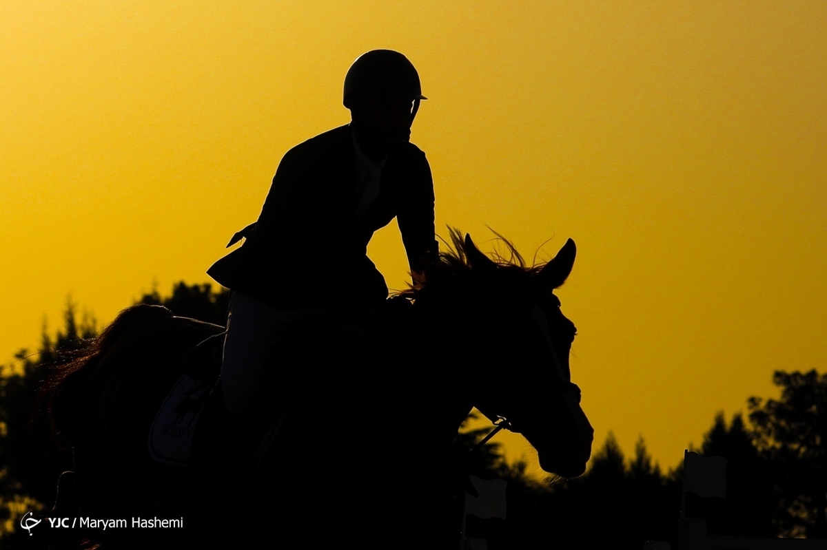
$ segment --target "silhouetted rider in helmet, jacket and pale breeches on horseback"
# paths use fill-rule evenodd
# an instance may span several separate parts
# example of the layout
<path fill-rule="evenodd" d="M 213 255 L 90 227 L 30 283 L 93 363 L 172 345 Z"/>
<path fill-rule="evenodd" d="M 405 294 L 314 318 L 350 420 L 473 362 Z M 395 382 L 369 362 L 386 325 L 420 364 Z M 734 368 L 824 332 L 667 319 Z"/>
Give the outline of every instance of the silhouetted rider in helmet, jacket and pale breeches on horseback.
<path fill-rule="evenodd" d="M 437 254 L 431 168 L 409 141 L 423 99 L 404 55 L 357 58 L 344 83 L 351 123 L 284 154 L 258 221 L 227 246 L 243 245 L 209 268 L 232 290 L 221 370 L 230 412 L 255 401 L 289 330 L 346 322 L 385 301 L 385 278 L 366 254 L 375 230 L 397 219 L 412 273 Z"/>

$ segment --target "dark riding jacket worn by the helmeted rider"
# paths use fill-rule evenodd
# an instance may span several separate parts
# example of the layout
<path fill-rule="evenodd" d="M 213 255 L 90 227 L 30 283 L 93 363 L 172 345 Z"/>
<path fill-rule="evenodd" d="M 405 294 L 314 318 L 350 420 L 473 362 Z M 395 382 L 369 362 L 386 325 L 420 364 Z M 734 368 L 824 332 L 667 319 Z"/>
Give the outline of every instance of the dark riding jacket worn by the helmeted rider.
<path fill-rule="evenodd" d="M 222 286 L 280 309 L 372 306 L 388 294 L 367 257 L 375 230 L 397 218 L 409 267 L 436 251 L 433 179 L 425 154 L 405 143 L 381 170 L 379 195 L 356 216 L 361 173 L 350 126 L 290 149 L 279 164 L 255 229 L 208 269 Z"/>

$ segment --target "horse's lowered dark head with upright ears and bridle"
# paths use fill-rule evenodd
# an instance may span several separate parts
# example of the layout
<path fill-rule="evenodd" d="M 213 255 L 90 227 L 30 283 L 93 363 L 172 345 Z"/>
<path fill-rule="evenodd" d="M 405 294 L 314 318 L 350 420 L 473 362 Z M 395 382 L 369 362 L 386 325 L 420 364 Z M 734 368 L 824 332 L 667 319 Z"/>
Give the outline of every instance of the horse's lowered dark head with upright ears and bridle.
<path fill-rule="evenodd" d="M 508 241 L 511 258 L 495 261 L 470 236 L 460 239 L 453 232 L 452 238 L 456 251 L 443 254 L 442 269 L 423 283 L 422 297 L 428 299 L 428 290 L 451 279 L 446 292 L 455 300 L 452 309 L 466 312 L 461 323 L 467 330 L 461 334 L 466 348 L 474 348 L 465 353 L 476 363 L 470 365 L 469 399 L 491 420 L 504 417 L 509 429 L 523 434 L 543 470 L 581 475 L 594 430 L 580 407 L 580 389 L 571 383 L 569 351 L 576 329 L 552 292 L 571 273 L 574 241 L 545 265 L 526 268 Z"/>

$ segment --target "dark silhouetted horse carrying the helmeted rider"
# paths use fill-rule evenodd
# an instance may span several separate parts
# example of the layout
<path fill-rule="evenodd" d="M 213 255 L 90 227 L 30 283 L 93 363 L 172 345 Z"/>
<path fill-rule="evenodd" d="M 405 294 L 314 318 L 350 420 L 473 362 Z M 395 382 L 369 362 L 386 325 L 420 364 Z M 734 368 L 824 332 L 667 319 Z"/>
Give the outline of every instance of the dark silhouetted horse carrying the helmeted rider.
<path fill-rule="evenodd" d="M 552 293 L 571 272 L 574 242 L 527 268 L 507 242 L 511 261 L 467 235 L 452 241 L 368 326 L 299 331 L 291 347 L 301 353 L 275 360 L 269 418 L 227 419 L 208 406 L 212 427 L 198 430 L 186 468 L 153 462 L 147 429 L 184 353 L 222 327 L 156 306 L 123 311 L 53 383 L 56 425 L 74 448 L 75 513 L 183 518 L 185 529 L 91 531 L 112 548 L 261 538 L 457 548 L 453 441 L 474 406 L 508 419 L 543 470 L 579 476 L 593 430 L 569 372 L 575 327 Z"/>

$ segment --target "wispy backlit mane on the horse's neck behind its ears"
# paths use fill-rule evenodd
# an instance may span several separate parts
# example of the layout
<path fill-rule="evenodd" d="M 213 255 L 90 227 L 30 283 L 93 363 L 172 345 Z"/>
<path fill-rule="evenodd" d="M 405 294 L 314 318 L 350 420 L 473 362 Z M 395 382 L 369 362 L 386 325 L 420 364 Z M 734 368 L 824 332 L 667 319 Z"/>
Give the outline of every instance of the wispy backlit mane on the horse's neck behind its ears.
<path fill-rule="evenodd" d="M 488 255 L 495 269 L 490 269 L 490 264 L 480 266 L 479 262 L 475 267 L 473 257 L 482 253 L 476 249 L 471 239 L 462 237 L 460 230 L 449 227 L 451 242 L 442 241 L 447 249 L 441 251 L 437 259 L 426 264 L 424 273 L 412 273 L 413 282 L 409 288 L 396 296 L 416 300 L 432 293 L 457 292 L 461 288 L 477 288 L 498 281 L 508 281 L 518 286 L 530 284 L 530 280 L 543 270 L 546 262 L 529 266 L 509 239 L 495 230 L 491 231 L 501 244 Z"/>

